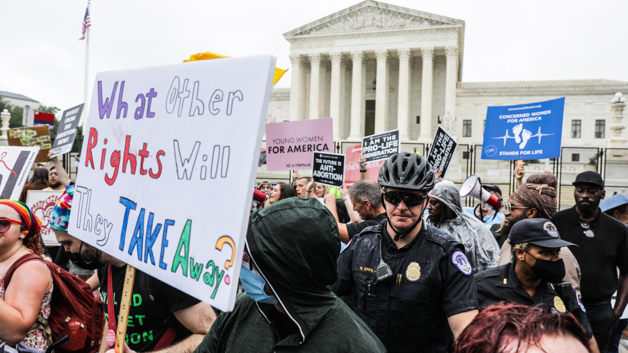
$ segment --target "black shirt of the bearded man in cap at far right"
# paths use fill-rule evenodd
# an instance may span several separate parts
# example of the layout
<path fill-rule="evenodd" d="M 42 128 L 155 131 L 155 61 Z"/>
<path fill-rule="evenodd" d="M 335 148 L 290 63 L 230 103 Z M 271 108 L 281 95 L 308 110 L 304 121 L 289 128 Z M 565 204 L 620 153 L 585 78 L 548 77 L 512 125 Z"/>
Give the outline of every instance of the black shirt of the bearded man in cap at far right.
<path fill-rule="evenodd" d="M 561 239 L 578 246 L 569 249 L 580 264 L 580 291 L 587 304 L 609 303 L 617 290 L 617 268 L 628 274 L 628 229 L 613 217 L 599 212 L 589 223 L 595 237 L 587 237 L 575 206 L 551 217 Z"/>

